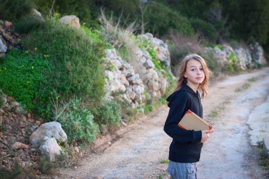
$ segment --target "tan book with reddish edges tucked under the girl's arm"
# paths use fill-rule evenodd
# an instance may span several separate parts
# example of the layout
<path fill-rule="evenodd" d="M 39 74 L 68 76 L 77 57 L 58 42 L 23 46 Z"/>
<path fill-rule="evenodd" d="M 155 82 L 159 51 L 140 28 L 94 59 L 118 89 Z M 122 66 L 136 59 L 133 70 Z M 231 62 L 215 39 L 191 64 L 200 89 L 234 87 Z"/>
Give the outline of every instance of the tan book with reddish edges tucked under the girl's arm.
<path fill-rule="evenodd" d="M 190 109 L 185 113 L 178 126 L 186 130 L 211 130 L 212 126 L 206 123 Z"/>

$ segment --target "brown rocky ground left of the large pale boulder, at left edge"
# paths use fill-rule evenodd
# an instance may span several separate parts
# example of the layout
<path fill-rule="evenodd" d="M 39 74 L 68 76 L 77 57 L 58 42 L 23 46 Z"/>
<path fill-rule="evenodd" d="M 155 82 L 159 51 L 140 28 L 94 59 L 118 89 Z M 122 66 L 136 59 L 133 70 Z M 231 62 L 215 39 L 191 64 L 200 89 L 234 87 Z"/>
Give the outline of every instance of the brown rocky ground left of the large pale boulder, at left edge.
<path fill-rule="evenodd" d="M 4 106 L 0 108 L 0 122 L 0 168 L 12 169 L 15 162 L 26 168 L 37 166 L 40 154 L 31 148 L 29 137 L 44 122 L 43 119 L 30 113 L 23 114 L 19 104 L 5 96 Z"/>

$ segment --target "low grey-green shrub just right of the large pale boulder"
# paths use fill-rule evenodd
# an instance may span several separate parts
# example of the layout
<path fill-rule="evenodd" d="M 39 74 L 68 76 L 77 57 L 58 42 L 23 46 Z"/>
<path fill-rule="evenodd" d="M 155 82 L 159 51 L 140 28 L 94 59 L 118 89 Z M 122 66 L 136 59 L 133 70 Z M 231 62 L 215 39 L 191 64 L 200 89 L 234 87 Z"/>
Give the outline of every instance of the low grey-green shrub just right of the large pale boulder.
<path fill-rule="evenodd" d="M 98 134 L 93 115 L 81 100 L 74 99 L 55 108 L 53 115 L 68 136 L 68 141 L 92 142 Z"/>

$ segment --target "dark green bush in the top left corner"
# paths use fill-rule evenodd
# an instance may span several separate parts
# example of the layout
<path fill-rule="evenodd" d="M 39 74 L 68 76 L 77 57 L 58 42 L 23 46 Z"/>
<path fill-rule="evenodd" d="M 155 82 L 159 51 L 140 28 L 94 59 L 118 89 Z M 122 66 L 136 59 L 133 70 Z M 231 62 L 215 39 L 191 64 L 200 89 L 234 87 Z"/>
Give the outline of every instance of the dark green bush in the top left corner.
<path fill-rule="evenodd" d="M 2 0 L 0 6 L 0 19 L 13 21 L 29 14 L 34 8 L 31 0 Z"/>

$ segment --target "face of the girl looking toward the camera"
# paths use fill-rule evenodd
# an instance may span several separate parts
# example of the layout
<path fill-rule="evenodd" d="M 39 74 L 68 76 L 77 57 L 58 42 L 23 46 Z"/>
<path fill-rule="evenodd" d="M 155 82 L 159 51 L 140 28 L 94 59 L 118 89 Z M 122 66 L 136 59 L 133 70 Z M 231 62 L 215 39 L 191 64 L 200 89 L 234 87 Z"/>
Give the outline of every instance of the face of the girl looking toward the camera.
<path fill-rule="evenodd" d="M 187 78 L 188 85 L 199 85 L 204 80 L 204 72 L 202 64 L 194 59 L 187 62 L 187 68 L 184 73 L 184 77 Z"/>

